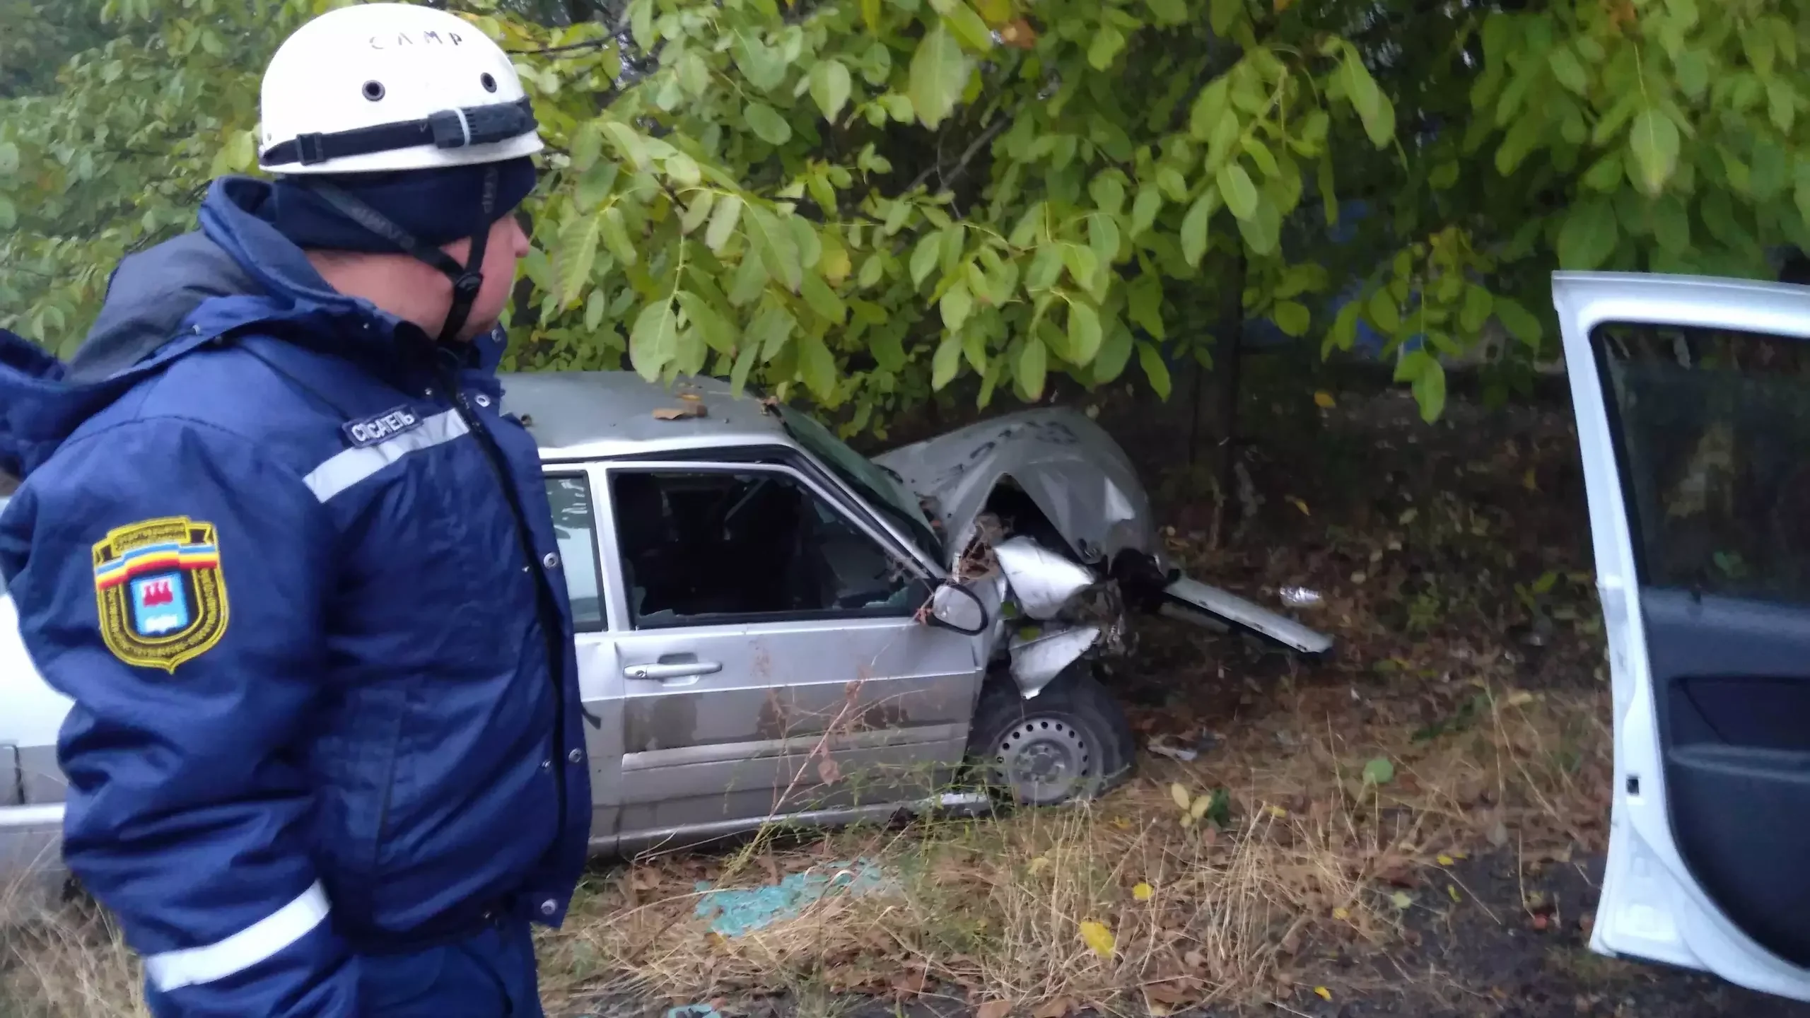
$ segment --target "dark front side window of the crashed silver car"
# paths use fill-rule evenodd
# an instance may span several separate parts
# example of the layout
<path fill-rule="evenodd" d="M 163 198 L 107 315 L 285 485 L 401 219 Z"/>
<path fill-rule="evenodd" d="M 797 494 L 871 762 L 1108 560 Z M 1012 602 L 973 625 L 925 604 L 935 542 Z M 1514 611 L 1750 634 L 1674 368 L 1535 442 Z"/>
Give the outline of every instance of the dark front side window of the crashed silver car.
<path fill-rule="evenodd" d="M 910 616 L 929 585 L 784 471 L 612 471 L 635 629 Z"/>

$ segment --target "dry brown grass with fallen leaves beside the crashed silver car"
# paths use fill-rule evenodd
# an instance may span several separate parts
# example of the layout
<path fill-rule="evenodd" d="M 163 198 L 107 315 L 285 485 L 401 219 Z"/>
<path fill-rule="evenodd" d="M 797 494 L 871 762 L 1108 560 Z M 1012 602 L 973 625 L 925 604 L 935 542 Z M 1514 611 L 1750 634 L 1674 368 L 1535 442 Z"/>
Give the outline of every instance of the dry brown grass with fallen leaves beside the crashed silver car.
<path fill-rule="evenodd" d="M 959 991 L 1032 1011 L 1149 1014 L 1274 1000 L 1309 978 L 1316 946 L 1386 953 L 1412 938 L 1406 909 L 1448 895 L 1444 879 L 1421 886 L 1441 857 L 1508 839 L 1548 857 L 1596 846 L 1589 817 L 1602 813 L 1609 766 L 1602 697 L 1468 688 L 1482 710 L 1430 739 L 1392 723 L 1354 726 L 1338 703 L 1347 690 L 1316 690 L 1202 761 L 1142 757 L 1138 779 L 1088 806 L 617 868 L 594 877 L 570 926 L 545 938 L 548 1005 Z M 1318 734 L 1281 748 L 1278 723 Z M 1397 768 L 1383 786 L 1359 777 L 1377 755 Z M 1173 784 L 1191 797 L 1227 790 L 1225 824 L 1184 826 Z M 699 879 L 758 886 L 854 857 L 883 862 L 896 888 L 827 895 L 735 938 L 693 915 Z M 1088 946 L 1084 922 L 1111 931 L 1110 955 Z"/>

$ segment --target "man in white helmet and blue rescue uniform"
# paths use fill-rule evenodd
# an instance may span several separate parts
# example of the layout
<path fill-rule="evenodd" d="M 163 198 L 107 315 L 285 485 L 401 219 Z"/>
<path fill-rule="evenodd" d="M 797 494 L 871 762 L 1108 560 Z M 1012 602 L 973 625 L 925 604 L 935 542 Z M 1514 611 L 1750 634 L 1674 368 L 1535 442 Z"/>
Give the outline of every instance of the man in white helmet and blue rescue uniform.
<path fill-rule="evenodd" d="M 299 29 L 262 168 L 121 263 L 62 364 L 0 335 L 0 571 L 65 859 L 159 1016 L 539 1014 L 590 821 L 570 605 L 496 321 L 541 149 L 427 7 Z"/>

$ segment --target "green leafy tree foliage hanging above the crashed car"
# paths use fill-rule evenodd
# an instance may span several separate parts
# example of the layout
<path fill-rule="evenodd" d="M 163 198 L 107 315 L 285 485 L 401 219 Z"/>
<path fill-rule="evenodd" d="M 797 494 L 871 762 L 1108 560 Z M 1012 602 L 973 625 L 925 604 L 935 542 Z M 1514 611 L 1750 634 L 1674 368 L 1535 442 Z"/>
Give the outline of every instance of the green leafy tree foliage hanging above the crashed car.
<path fill-rule="evenodd" d="M 114 263 L 255 165 L 261 67 L 331 5 L 0 0 L 0 324 L 71 350 Z M 1551 344 L 1555 266 L 1810 248 L 1801 0 L 449 5 L 548 141 L 512 362 L 851 427 L 961 375 L 1035 400 L 1135 362 L 1166 397 L 1242 317 L 1365 322 L 1432 418 L 1439 355 Z"/>

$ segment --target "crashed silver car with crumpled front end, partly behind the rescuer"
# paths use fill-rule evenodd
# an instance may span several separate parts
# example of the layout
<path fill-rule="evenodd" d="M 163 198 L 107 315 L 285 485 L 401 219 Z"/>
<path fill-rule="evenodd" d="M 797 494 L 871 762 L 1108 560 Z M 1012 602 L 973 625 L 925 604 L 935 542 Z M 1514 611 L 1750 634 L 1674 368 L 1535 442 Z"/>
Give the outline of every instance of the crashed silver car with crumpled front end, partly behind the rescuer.
<path fill-rule="evenodd" d="M 1079 413 L 869 460 L 719 382 L 503 382 L 567 562 L 601 853 L 1097 793 L 1133 744 L 1088 663 L 1135 612 L 1330 645 L 1171 571 L 1129 462 Z M 11 605 L 0 621 L 0 869 L 54 864 L 69 705 Z"/>

